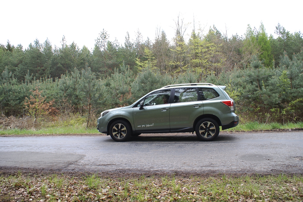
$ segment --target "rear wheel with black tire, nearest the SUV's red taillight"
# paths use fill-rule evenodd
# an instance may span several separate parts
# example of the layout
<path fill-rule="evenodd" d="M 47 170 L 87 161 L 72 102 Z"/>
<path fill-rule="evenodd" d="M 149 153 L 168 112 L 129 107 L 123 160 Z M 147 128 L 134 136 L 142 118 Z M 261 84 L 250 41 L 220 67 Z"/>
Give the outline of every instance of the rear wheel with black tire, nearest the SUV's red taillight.
<path fill-rule="evenodd" d="M 195 127 L 196 135 L 201 141 L 212 141 L 219 135 L 220 128 L 217 121 L 212 118 L 203 118 L 198 121 Z"/>

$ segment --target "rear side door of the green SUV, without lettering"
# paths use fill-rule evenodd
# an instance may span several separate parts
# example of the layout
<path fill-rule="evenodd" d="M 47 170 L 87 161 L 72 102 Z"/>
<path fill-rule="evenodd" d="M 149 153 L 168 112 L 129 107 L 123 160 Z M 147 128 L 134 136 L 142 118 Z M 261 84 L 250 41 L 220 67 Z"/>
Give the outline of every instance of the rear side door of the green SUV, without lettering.
<path fill-rule="evenodd" d="M 176 88 L 170 107 L 171 132 L 192 128 L 195 119 L 203 114 L 203 103 L 196 88 Z"/>

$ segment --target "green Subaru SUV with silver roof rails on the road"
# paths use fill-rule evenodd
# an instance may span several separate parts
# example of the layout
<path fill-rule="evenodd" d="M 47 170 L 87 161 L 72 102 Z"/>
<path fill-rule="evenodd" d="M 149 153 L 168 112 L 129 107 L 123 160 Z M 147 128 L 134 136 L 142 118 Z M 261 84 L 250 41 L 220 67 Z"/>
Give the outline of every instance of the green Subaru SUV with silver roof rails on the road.
<path fill-rule="evenodd" d="M 97 129 L 118 142 L 141 133 L 196 132 L 201 141 L 214 140 L 239 118 L 226 86 L 209 83 L 168 85 L 151 91 L 134 104 L 103 111 Z"/>

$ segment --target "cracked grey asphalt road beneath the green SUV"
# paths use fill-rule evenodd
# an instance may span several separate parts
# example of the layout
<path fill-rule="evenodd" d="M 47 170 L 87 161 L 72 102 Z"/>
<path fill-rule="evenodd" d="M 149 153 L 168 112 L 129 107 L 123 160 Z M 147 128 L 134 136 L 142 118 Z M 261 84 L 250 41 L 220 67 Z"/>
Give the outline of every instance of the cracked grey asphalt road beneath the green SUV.
<path fill-rule="evenodd" d="M 0 167 L 98 173 L 303 173 L 303 132 L 0 137 Z"/>

